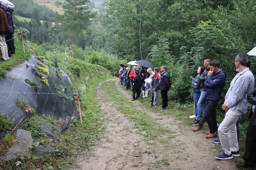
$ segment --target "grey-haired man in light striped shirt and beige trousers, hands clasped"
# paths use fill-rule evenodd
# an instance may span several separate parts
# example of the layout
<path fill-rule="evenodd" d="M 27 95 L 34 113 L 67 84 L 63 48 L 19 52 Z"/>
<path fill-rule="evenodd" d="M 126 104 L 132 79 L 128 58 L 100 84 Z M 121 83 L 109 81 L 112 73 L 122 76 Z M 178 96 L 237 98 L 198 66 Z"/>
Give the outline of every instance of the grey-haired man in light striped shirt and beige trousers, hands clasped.
<path fill-rule="evenodd" d="M 224 120 L 218 128 L 219 140 L 224 152 L 216 155 L 217 159 L 232 159 L 240 156 L 237 139 L 236 122 L 241 115 L 246 113 L 248 102 L 247 95 L 253 90 L 254 76 L 247 68 L 248 58 L 246 54 L 238 54 L 235 65 L 240 72 L 233 78 L 222 105 L 227 111 Z"/>

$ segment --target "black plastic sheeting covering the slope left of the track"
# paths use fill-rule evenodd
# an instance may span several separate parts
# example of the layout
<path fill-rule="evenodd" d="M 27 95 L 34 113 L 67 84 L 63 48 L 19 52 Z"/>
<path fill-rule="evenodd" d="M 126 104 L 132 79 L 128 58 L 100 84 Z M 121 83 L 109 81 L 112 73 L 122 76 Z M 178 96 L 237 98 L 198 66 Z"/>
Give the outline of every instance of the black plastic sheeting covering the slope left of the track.
<path fill-rule="evenodd" d="M 43 64 L 47 65 L 47 61 L 44 61 Z M 42 62 L 32 55 L 28 61 L 7 73 L 7 77 L 0 82 L 0 113 L 14 120 L 10 129 L 21 126 L 31 115 L 30 112 L 26 113 L 16 106 L 17 100 L 27 103 L 39 116 L 49 115 L 55 120 L 65 120 L 66 117 L 72 116 L 77 118 L 75 97 L 68 75 L 64 73 L 59 79 L 48 67 L 50 74 L 44 75 L 49 83 L 47 86 L 35 76 L 35 72 L 38 71 L 35 67 L 40 67 L 40 63 Z M 26 79 L 32 78 L 35 82 L 41 83 L 39 89 L 25 82 Z M 69 98 L 61 98 L 54 85 L 61 88 Z M 65 90 L 64 87 L 69 89 Z"/>

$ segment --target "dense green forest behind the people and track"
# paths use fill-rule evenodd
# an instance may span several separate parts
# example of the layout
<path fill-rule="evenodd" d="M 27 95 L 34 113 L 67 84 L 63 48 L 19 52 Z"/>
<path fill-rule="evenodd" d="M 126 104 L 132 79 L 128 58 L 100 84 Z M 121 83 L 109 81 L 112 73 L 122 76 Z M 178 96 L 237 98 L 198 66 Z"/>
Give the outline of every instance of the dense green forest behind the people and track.
<path fill-rule="evenodd" d="M 29 22 L 14 19 L 16 26 L 30 32 L 28 40 L 47 50 L 53 44 L 49 25 L 55 21 L 60 23 L 53 26 L 58 37 L 55 44 L 62 51 L 72 45 L 64 21 L 57 20 L 55 12 L 32 0 L 12 2 L 17 7 L 14 15 L 31 17 Z M 255 3 L 253 0 L 106 1 L 105 10 L 101 7 L 96 14 L 90 12 L 95 16 L 83 23 L 85 29 L 75 33 L 74 56 L 102 65 L 113 73 L 118 72 L 118 62 L 148 60 L 156 67 L 166 65 L 173 83 L 170 99 L 186 103 L 193 99 L 191 80 L 197 68 L 206 58 L 216 59 L 227 74 L 224 96 L 236 74 L 234 57 L 256 46 Z M 88 11 L 94 4 L 87 4 L 92 5 Z M 251 70 L 256 73 L 255 57 L 249 58 Z"/>

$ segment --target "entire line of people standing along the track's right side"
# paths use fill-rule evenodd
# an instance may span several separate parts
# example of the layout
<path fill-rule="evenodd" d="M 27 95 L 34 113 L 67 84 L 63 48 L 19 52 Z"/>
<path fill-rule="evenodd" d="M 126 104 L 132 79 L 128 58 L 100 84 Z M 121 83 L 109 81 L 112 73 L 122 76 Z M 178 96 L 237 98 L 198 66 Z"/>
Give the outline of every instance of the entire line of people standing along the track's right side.
<path fill-rule="evenodd" d="M 216 159 L 232 159 L 233 156 L 240 156 L 239 153 L 239 120 L 246 113 L 249 103 L 252 107 L 249 112 L 249 118 L 252 117 L 246 135 L 244 162 L 237 163 L 237 167 L 255 168 L 256 166 L 256 88 L 254 88 L 254 75 L 250 71 L 251 62 L 246 54 L 239 54 L 235 57 L 234 64 L 236 76 L 230 83 L 230 87 L 225 96 L 225 102 L 222 109 L 225 111 L 225 117 L 222 123 L 217 126 L 216 106 L 221 100 L 222 90 L 226 82 L 226 73 L 220 68 L 220 62 L 217 60 L 204 60 L 204 67 L 197 69 L 197 76 L 192 81 L 194 90 L 194 115 L 189 116 L 195 119 L 191 124 L 197 125 L 193 131 L 199 131 L 203 125 L 208 123 L 209 132 L 206 132 L 206 138 L 218 138 L 212 140 L 213 143 L 220 143 L 223 149 L 221 154 L 216 155 Z M 127 70 L 120 76 L 120 81 L 126 81 L 126 90 L 132 88 L 132 101 L 146 98 L 151 91 L 152 106 L 158 105 L 159 90 L 161 91 L 162 106 L 159 109 L 165 109 L 168 106 L 168 90 L 170 90 L 170 74 L 167 67 L 151 68 L 136 67 Z M 124 71 L 123 71 L 124 72 Z M 120 74 L 120 72 L 119 72 Z M 121 75 L 121 74 L 120 74 Z M 121 80 L 122 79 L 122 80 Z M 125 82 L 125 81 L 124 81 Z M 131 82 L 131 84 L 130 84 Z M 142 95 L 141 95 L 142 93 Z"/>

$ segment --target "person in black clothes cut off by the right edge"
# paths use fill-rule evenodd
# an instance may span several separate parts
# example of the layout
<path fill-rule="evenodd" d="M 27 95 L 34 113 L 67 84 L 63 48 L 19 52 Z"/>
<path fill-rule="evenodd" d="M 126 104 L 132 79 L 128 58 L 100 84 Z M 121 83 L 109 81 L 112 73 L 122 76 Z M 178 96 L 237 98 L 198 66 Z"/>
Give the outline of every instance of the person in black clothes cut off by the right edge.
<path fill-rule="evenodd" d="M 245 154 L 243 156 L 244 162 L 236 164 L 241 168 L 255 168 L 256 165 L 256 88 L 247 95 L 247 101 L 252 104 L 249 112 L 249 119 L 252 117 L 248 128 L 245 141 Z"/>

